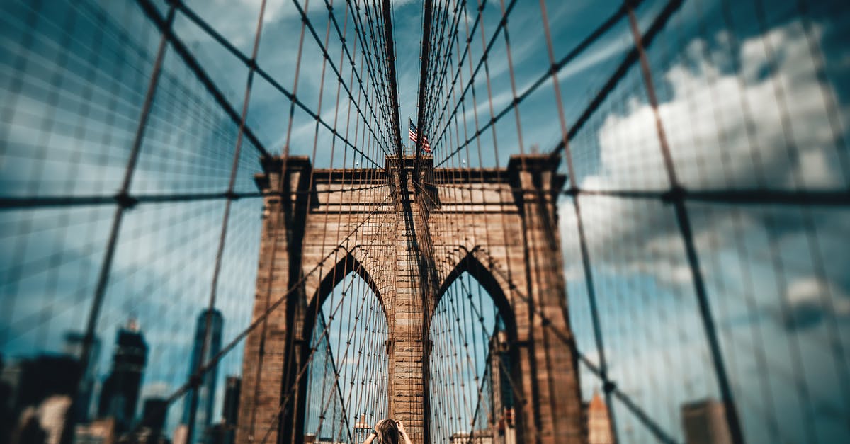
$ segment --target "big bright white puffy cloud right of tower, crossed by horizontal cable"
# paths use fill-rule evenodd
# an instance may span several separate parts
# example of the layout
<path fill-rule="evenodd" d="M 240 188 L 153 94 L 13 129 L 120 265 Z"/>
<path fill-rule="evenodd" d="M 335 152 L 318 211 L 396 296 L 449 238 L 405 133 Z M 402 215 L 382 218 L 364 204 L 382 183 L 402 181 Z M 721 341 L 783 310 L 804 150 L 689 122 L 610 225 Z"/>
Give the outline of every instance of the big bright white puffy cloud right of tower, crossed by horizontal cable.
<path fill-rule="evenodd" d="M 772 189 L 835 187 L 842 183 L 836 162 L 831 161 L 834 135 L 825 123 L 825 106 L 801 27 L 792 23 L 769 31 L 763 38 L 773 44 L 775 57 L 767 59 L 763 54 L 762 37 L 746 39 L 736 55 L 743 78 L 724 71 L 729 62 L 726 51 L 695 40 L 682 62 L 655 79 L 658 84 L 669 85 L 670 100 L 661 103 L 659 111 L 678 177 L 689 189 L 757 186 L 757 170 L 767 179 L 764 185 Z M 720 35 L 717 44 L 722 46 L 727 40 Z M 706 54 L 707 60 L 702 57 Z M 773 74 L 764 75 L 764 67 L 772 63 Z M 784 89 L 787 104 L 792 107 L 790 132 L 782 126 L 779 112 L 783 104 L 777 100 L 776 88 Z M 748 116 L 742 115 L 742 100 L 751 107 Z M 598 171 L 580 177 L 582 188 L 669 187 L 651 107 L 632 98 L 626 110 L 625 114 L 605 117 L 598 130 L 601 162 Z M 752 145 L 746 117 L 751 118 L 756 131 Z M 786 151 L 786 134 L 792 134 L 791 157 Z M 751 150 L 757 150 L 755 160 Z M 643 248 L 635 253 L 638 257 L 629 257 L 627 248 L 623 249 L 625 256 L 618 264 L 621 272 L 649 274 L 662 283 L 690 281 L 670 206 L 593 196 L 581 197 L 581 204 L 592 252 L 618 243 L 628 246 L 640 242 Z M 735 231 L 761 228 L 760 222 L 748 214 L 736 221 L 717 217 L 708 224 L 710 229 L 697 230 L 697 248 L 729 247 Z M 560 223 L 562 232 L 575 232 L 572 208 L 564 208 Z M 575 236 L 564 236 L 564 250 L 577 252 L 577 242 Z M 647 258 L 656 262 L 649 263 Z M 666 268 L 657 261 L 666 262 Z M 580 268 L 581 264 L 573 261 L 572 267 Z M 567 273 L 577 274 L 570 269 Z"/>

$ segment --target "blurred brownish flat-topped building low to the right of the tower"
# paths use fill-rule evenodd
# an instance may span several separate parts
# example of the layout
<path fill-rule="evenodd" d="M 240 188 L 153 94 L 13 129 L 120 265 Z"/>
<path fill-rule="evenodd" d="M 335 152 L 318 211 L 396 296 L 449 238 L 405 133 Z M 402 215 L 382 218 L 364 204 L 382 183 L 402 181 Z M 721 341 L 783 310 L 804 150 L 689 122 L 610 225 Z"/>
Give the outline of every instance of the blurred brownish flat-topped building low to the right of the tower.
<path fill-rule="evenodd" d="M 706 399 L 682 406 L 682 427 L 687 444 L 731 444 L 723 403 Z"/>

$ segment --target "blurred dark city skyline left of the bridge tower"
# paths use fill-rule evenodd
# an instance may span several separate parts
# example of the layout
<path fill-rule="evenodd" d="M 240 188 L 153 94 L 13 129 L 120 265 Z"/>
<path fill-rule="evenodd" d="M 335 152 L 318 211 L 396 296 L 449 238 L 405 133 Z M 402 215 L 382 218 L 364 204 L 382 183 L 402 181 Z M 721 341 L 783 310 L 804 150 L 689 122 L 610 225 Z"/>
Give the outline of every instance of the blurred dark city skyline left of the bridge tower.
<path fill-rule="evenodd" d="M 195 339 L 203 340 L 202 330 L 205 327 L 207 310 L 202 310 L 197 316 L 197 324 L 195 331 Z M 214 356 L 220 349 L 221 329 L 224 324 L 224 316 L 218 310 L 212 311 L 212 344 L 207 349 L 207 359 L 209 356 Z M 217 331 L 216 331 L 217 330 Z M 75 366 L 80 357 L 82 348 L 82 333 L 76 331 L 66 331 L 62 334 L 65 341 L 65 347 L 59 351 L 50 353 L 48 350 L 36 350 L 30 354 L 19 354 L 16 356 L 0 356 L 2 358 L 3 367 L 11 368 L 10 366 L 19 365 L 18 363 L 30 362 L 33 359 L 48 360 L 48 362 L 65 362 L 65 366 Z M 218 338 L 216 338 L 218 336 Z M 150 382 L 144 378 L 145 366 L 147 365 L 148 356 L 155 354 L 156 350 L 148 347 L 145 341 L 144 326 L 141 325 L 134 316 L 127 317 L 126 322 L 116 327 L 115 340 L 103 347 L 100 344 L 99 338 L 94 338 L 94 360 L 90 362 L 88 371 L 85 372 L 80 379 L 80 391 L 77 393 L 77 399 L 73 406 L 77 413 L 77 424 L 97 424 L 95 427 L 104 427 L 103 420 L 111 418 L 114 422 L 112 425 L 105 425 L 105 430 L 113 430 L 112 434 L 115 439 L 122 433 L 128 433 L 135 430 L 137 427 L 151 428 L 151 424 L 160 424 L 164 435 L 170 436 L 174 427 L 178 423 L 183 423 L 184 415 L 188 414 L 190 394 L 184 396 L 182 401 L 175 402 L 177 407 L 164 404 L 164 398 L 167 391 L 163 391 L 161 387 L 157 387 L 158 382 Z M 105 356 L 99 356 L 100 352 Z M 197 365 L 197 359 L 200 354 L 200 347 L 197 341 L 192 345 L 191 356 L 184 360 L 186 363 L 186 372 L 192 373 L 192 369 Z M 111 364 L 105 368 L 101 367 L 98 370 L 99 358 L 108 359 Z M 32 367 L 32 366 L 30 366 Z M 48 372 L 50 367 L 47 364 L 38 364 L 37 367 L 40 373 L 33 373 L 33 378 L 40 378 L 44 372 Z M 79 370 L 76 370 L 79 371 Z M 32 373 L 31 371 L 29 373 Z M 66 372 L 67 373 L 67 372 Z M 17 375 L 19 373 L 15 373 Z M 47 374 L 47 373 L 44 373 Z M 70 378 L 74 378 L 75 373 L 68 373 Z M 15 378 L 17 378 L 15 376 Z M 221 375 L 224 381 L 224 386 L 221 390 L 216 390 L 216 379 L 218 373 L 207 373 L 207 378 L 203 379 L 202 385 L 206 390 L 201 390 L 199 396 L 198 416 L 196 419 L 197 427 L 195 431 L 195 440 L 200 442 L 207 439 L 207 434 L 218 433 L 213 430 L 213 424 L 218 424 L 218 421 L 224 421 L 222 424 L 230 424 L 232 427 L 235 424 L 235 409 L 238 408 L 238 393 L 239 381 L 238 376 L 225 373 Z M 26 383 L 25 383 L 26 384 Z M 29 383 L 32 384 L 32 383 Z M 60 383 L 62 384 L 62 383 Z M 73 382 L 68 380 L 64 387 L 65 389 L 50 389 L 48 391 L 56 392 L 58 395 L 71 394 L 76 390 Z M 88 393 L 85 389 L 88 388 Z M 153 388 L 154 393 L 150 393 Z M 171 388 L 170 390 L 174 390 Z M 212 390 L 210 390 L 212 389 Z M 31 391 L 31 390 L 27 390 Z M 145 395 L 147 392 L 147 395 Z M 211 394 L 212 396 L 209 396 Z M 127 400 L 133 400 L 135 402 Z M 36 398 L 38 399 L 38 398 Z M 216 402 L 218 401 L 218 402 Z M 26 399 L 20 401 L 24 405 L 29 405 L 33 401 Z M 68 407 L 71 407 L 70 401 Z M 216 417 L 214 412 L 221 412 L 220 417 Z M 148 418 L 150 414 L 154 416 Z M 159 418 L 158 415 L 161 415 Z M 156 419 L 159 418 L 159 419 Z M 151 423 L 153 421 L 153 423 Z M 2 432 L 3 427 L 0 427 Z M 88 429 L 87 429 L 88 430 Z M 95 429 L 100 430 L 100 429 Z M 85 432 L 85 433 L 88 433 Z M 106 432 L 94 432 L 95 435 Z M 232 442 L 233 430 L 222 430 L 221 433 L 229 436 L 229 442 Z M 2 435 L 2 434 L 0 434 Z"/>

